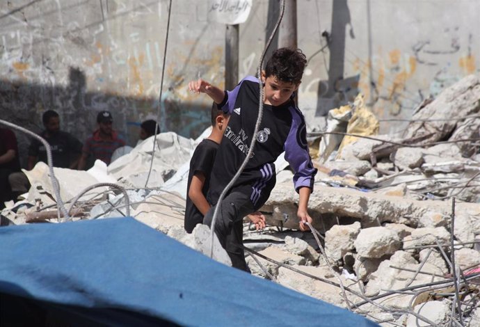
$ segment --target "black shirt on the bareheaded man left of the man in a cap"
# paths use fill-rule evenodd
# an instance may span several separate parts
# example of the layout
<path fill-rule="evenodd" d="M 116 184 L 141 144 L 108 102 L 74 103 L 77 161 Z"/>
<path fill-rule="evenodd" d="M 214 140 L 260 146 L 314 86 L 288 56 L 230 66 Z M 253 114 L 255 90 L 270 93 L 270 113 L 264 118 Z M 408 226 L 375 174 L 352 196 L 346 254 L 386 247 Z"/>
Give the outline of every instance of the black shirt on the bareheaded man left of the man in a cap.
<path fill-rule="evenodd" d="M 47 132 L 42 131 L 42 138 L 45 138 L 51 147 L 51 159 L 54 167 L 69 168 L 70 163 L 81 154 L 83 145 L 77 138 L 66 131 L 58 131 L 56 134 L 46 137 Z M 37 157 L 38 161 L 47 163 L 47 150 L 45 145 L 34 138 L 29 147 L 29 156 Z"/>

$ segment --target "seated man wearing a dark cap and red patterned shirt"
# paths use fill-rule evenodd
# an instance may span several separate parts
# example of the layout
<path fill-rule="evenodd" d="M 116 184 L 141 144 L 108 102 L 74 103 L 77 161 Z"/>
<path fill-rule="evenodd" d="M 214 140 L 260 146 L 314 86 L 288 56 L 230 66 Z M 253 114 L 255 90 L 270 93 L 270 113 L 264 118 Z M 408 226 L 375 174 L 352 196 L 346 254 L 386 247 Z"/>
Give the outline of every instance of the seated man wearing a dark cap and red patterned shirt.
<path fill-rule="evenodd" d="M 111 161 L 113 151 L 125 145 L 125 141 L 112 129 L 113 118 L 109 111 L 101 111 L 97 115 L 98 129 L 93 136 L 87 138 L 83 145 L 83 153 L 79 161 L 79 170 L 86 168 L 88 157 L 104 161 L 107 165 Z"/>

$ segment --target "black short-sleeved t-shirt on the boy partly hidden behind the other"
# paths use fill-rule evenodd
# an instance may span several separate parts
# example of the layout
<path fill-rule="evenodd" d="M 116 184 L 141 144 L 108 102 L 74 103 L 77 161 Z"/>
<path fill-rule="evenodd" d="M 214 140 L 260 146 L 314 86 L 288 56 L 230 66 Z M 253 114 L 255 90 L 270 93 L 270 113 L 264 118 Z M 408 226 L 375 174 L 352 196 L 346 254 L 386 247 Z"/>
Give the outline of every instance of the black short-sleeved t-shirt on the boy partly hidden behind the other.
<path fill-rule="evenodd" d="M 218 150 L 218 143 L 205 139 L 195 148 L 192 159 L 190 160 L 189 180 L 186 186 L 186 207 L 185 207 L 185 219 L 184 227 L 186 232 L 191 233 L 193 228 L 198 223 L 202 223 L 203 215 L 200 210 L 193 205 L 193 202 L 189 198 L 190 184 L 192 182 L 193 175 L 197 172 L 205 175 L 205 184 L 203 184 L 202 193 L 206 197 L 210 185 L 211 168 L 214 166 L 214 160 L 216 157 L 216 151 Z"/>

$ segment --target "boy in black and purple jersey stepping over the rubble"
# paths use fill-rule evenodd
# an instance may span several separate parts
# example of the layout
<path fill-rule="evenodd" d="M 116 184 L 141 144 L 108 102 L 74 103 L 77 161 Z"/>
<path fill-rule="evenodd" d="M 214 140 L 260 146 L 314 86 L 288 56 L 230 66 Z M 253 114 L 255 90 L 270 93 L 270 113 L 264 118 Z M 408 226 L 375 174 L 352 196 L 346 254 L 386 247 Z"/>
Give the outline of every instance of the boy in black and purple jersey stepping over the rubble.
<path fill-rule="evenodd" d="M 264 87 L 264 112 L 255 138 L 257 142 L 246 168 L 221 202 L 215 232 L 228 251 L 233 266 L 248 270 L 241 241 L 227 244 L 234 223 L 264 205 L 275 186 L 274 161 L 285 151 L 285 159 L 294 170 L 294 187 L 299 193 L 298 220 L 300 230 L 312 223 L 307 212 L 310 193 L 313 191 L 313 167 L 306 139 L 305 119 L 294 102 L 294 93 L 301 83 L 306 65 L 300 49 L 276 50 L 266 63 L 261 79 L 246 77 L 232 91 L 223 91 L 199 79 L 189 83 L 190 90 L 207 93 L 230 121 L 216 154 L 211 173 L 207 200 L 216 205 L 225 186 L 237 173 L 250 146 L 259 106 L 259 83 Z M 203 223 L 210 225 L 214 208 L 207 212 Z M 230 241 L 228 241 L 230 243 Z"/>

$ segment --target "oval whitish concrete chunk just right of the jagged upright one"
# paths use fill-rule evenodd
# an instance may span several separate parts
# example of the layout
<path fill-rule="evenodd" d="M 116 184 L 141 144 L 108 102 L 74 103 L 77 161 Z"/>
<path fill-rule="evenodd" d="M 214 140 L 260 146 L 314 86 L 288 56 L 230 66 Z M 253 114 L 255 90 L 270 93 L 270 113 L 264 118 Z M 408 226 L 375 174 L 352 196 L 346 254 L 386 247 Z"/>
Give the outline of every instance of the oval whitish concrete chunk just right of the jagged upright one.
<path fill-rule="evenodd" d="M 397 251 L 401 246 L 397 232 L 385 227 L 371 227 L 360 230 L 353 243 L 360 257 L 378 258 Z"/>

